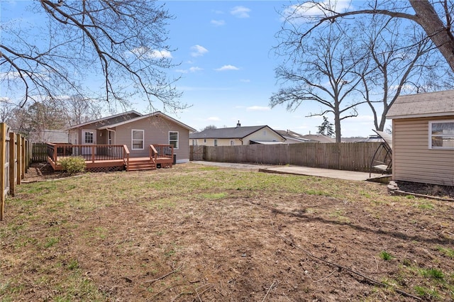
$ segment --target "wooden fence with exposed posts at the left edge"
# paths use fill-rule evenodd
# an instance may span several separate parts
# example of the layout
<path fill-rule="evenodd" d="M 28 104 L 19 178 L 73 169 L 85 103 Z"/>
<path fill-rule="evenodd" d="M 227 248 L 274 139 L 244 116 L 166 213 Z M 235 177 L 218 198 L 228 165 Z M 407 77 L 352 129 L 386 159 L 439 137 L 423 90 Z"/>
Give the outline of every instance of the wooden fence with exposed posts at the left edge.
<path fill-rule="evenodd" d="M 4 218 L 6 195 L 14 196 L 16 184 L 21 184 L 30 162 L 28 140 L 9 131 L 6 123 L 0 123 L 0 220 Z"/>

